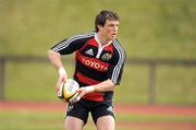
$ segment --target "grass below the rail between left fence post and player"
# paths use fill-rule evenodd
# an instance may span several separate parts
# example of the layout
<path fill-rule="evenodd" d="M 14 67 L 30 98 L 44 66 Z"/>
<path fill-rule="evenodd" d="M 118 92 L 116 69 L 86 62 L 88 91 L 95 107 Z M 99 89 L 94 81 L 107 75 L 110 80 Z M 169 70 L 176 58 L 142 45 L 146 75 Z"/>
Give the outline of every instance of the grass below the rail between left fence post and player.
<path fill-rule="evenodd" d="M 68 66 L 68 70 L 71 67 Z M 15 73 L 16 72 L 16 73 Z M 68 71 L 72 76 L 73 70 Z M 5 98 L 12 101 L 54 101 L 58 73 L 49 63 L 9 63 L 5 76 Z"/>

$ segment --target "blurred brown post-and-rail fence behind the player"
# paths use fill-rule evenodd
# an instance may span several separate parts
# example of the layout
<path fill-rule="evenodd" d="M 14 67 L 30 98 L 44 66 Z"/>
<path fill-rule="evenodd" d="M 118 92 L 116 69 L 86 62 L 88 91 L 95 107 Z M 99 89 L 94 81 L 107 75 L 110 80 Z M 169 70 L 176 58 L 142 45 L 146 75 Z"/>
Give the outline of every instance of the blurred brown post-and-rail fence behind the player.
<path fill-rule="evenodd" d="M 0 57 L 0 101 L 4 101 L 4 75 L 5 75 L 5 64 L 7 62 L 48 62 L 48 59 L 45 57 L 36 56 L 4 56 Z M 132 58 L 127 59 L 127 64 L 140 66 L 145 64 L 149 68 L 148 75 L 148 87 L 149 87 L 149 104 L 156 104 L 156 70 L 158 66 L 194 66 L 196 67 L 196 60 L 186 60 L 186 59 L 143 59 L 143 58 Z"/>

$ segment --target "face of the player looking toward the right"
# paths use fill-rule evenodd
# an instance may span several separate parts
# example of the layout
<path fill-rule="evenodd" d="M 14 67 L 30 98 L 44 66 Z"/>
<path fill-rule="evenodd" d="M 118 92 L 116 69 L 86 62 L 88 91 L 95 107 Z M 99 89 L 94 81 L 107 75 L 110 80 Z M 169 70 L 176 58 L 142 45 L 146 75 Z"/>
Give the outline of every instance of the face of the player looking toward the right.
<path fill-rule="evenodd" d="M 112 40 L 117 38 L 118 29 L 119 29 L 119 21 L 115 20 L 107 20 L 105 26 L 98 26 L 99 33 L 101 36 L 108 40 Z"/>

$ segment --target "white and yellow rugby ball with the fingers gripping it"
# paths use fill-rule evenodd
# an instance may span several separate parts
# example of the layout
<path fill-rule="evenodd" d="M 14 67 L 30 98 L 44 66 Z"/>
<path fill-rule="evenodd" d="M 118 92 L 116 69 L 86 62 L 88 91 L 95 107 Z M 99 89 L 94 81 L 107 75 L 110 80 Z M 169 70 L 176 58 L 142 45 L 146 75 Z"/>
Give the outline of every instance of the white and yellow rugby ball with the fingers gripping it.
<path fill-rule="evenodd" d="M 79 85 L 75 80 L 68 79 L 66 82 L 61 83 L 58 91 L 58 97 L 62 101 L 72 103 L 78 96 L 78 88 Z"/>

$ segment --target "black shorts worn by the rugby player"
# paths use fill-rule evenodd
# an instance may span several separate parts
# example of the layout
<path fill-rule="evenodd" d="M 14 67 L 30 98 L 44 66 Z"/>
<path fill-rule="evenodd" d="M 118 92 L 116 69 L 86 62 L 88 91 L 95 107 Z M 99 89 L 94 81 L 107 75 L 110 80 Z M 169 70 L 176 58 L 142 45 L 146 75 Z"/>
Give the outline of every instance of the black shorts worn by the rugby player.
<path fill-rule="evenodd" d="M 96 123 L 97 119 L 102 116 L 111 115 L 114 118 L 113 105 L 111 101 L 93 102 L 81 99 L 74 105 L 68 105 L 66 116 L 79 118 L 87 122 L 88 114 L 91 114 L 93 120 Z"/>

